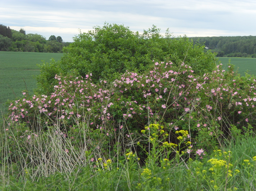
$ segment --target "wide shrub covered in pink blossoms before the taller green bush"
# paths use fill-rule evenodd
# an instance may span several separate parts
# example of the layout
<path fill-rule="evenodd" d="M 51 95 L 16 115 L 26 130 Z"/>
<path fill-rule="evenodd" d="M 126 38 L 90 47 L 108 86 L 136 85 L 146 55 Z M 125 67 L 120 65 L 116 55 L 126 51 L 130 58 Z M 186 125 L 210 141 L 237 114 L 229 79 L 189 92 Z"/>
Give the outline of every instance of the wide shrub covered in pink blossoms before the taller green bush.
<path fill-rule="evenodd" d="M 184 63 L 155 62 L 148 72 L 127 71 L 112 83 L 96 85 L 90 77 L 56 75 L 52 94 L 31 97 L 23 92 L 22 99 L 10 104 L 9 119 L 27 123 L 35 133 L 58 124 L 58 133 L 78 147 L 76 136 L 86 126 L 83 136 L 93 137 L 92 149 L 102 140 L 114 148 L 120 135 L 132 142 L 158 121 L 167 127 L 169 142 L 177 143 L 176 130 L 188 131 L 199 156 L 200 149 L 213 149 L 222 133 L 230 133 L 231 125 L 242 129 L 255 121 L 256 81 L 236 76 L 232 67 L 225 72 L 219 65 L 211 74 L 196 75 Z"/>

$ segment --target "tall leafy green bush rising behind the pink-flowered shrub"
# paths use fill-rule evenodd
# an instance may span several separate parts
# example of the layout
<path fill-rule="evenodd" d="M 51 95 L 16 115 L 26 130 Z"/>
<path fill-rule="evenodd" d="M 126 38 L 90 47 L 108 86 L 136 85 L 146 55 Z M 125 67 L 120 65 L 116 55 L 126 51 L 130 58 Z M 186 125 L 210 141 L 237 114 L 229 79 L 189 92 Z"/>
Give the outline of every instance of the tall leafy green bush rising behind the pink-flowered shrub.
<path fill-rule="evenodd" d="M 139 34 L 123 25 L 105 23 L 102 28 L 96 26 L 93 31 L 80 33 L 63 51 L 65 54 L 60 62 L 50 63 L 47 69 L 42 67 L 38 81 L 44 87 L 51 89 L 53 79 L 47 83 L 41 82 L 41 78 L 51 79 L 60 73 L 83 77 L 92 73 L 93 82 L 99 79 L 113 81 L 126 70 L 145 71 L 152 60 L 172 61 L 175 65 L 184 62 L 193 66 L 198 74 L 211 71 L 215 66 L 214 54 L 205 53 L 204 46 L 193 45 L 186 36 L 171 38 L 168 30 L 164 38 L 154 25 Z"/>

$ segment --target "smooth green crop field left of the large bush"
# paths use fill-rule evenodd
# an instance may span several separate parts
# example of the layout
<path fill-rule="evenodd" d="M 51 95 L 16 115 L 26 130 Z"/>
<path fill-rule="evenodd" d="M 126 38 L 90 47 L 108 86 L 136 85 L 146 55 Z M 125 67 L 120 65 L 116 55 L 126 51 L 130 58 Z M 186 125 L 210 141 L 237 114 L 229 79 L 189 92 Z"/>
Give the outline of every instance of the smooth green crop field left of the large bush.
<path fill-rule="evenodd" d="M 42 61 L 56 61 L 63 53 L 43 52 L 0 52 L 0 109 L 10 99 L 22 96 L 21 91 L 26 90 L 30 94 L 36 88 L 36 80 L 33 76 L 40 73 L 37 64 Z M 26 82 L 26 85 L 25 85 Z"/>

